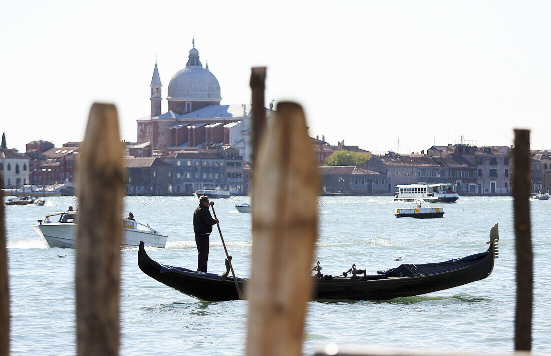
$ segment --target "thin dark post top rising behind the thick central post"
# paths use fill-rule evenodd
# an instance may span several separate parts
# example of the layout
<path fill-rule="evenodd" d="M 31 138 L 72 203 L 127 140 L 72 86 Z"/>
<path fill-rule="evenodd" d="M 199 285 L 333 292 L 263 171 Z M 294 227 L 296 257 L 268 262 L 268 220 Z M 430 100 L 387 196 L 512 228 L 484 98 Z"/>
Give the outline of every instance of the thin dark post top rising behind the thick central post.
<path fill-rule="evenodd" d="M 266 88 L 266 67 L 251 69 L 251 143 L 252 143 L 252 168 L 255 169 L 258 153 L 258 144 L 262 139 L 262 133 L 266 127 L 266 109 L 264 109 L 264 88 Z"/>

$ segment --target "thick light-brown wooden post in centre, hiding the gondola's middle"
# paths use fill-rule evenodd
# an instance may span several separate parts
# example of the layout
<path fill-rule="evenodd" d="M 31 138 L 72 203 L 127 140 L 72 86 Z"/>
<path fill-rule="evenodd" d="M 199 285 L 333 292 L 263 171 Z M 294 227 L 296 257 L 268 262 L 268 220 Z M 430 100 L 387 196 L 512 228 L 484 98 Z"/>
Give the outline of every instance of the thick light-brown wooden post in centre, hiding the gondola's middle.
<path fill-rule="evenodd" d="M 312 296 L 318 193 L 300 105 L 278 105 L 256 162 L 246 354 L 298 356 Z"/>

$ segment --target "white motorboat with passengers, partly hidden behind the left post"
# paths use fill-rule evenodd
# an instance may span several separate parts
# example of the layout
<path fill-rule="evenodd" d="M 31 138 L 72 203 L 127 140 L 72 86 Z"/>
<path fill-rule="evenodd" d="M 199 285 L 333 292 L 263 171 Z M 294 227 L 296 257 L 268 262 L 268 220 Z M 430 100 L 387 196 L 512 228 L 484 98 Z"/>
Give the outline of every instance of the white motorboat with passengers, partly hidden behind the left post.
<path fill-rule="evenodd" d="M 44 220 L 31 225 L 50 247 L 74 249 L 77 235 L 77 212 L 53 212 L 46 214 Z M 139 246 L 143 241 L 145 246 L 165 248 L 166 236 L 159 234 L 148 224 L 144 225 L 134 220 L 121 219 L 123 230 L 122 247 Z"/>

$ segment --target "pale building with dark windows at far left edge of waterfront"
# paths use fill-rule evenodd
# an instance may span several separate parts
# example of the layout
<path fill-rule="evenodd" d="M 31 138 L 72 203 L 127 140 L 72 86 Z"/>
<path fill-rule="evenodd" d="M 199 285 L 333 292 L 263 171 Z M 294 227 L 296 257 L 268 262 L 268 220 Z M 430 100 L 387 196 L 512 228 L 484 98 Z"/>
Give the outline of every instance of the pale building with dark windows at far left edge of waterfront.
<path fill-rule="evenodd" d="M 24 184 L 29 184 L 29 157 L 19 153 L 15 148 L 7 148 L 6 136 L 2 135 L 2 145 L 0 145 L 0 172 L 4 179 L 2 188 L 19 188 Z"/>

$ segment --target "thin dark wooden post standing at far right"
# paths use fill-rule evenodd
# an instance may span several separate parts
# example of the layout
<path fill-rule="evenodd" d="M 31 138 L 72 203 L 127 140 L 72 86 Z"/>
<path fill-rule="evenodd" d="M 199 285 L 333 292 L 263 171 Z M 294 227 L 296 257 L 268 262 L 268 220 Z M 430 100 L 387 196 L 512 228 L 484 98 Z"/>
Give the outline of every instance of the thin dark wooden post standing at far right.
<path fill-rule="evenodd" d="M 513 149 L 515 211 L 516 309 L 515 350 L 532 349 L 533 253 L 530 222 L 530 130 L 515 130 Z"/>

